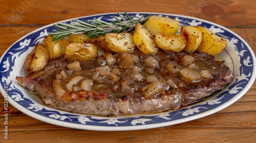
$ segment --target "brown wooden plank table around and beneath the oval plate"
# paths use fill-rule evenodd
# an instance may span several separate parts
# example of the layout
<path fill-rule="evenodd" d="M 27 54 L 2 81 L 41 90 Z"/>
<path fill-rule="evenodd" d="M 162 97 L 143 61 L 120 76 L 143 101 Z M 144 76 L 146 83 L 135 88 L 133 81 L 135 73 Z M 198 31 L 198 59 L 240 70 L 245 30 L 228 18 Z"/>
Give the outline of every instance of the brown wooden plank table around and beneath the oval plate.
<path fill-rule="evenodd" d="M 61 1 L 22 0 L 0 3 L 0 55 L 27 33 L 69 18 L 107 12 L 159 12 L 216 22 L 240 35 L 256 54 L 256 2 L 230 1 Z M 198 120 L 136 131 L 90 131 L 35 120 L 8 106 L 8 139 L 4 138 L 4 98 L 0 96 L 0 142 L 255 142 L 256 84 L 236 103 Z"/>

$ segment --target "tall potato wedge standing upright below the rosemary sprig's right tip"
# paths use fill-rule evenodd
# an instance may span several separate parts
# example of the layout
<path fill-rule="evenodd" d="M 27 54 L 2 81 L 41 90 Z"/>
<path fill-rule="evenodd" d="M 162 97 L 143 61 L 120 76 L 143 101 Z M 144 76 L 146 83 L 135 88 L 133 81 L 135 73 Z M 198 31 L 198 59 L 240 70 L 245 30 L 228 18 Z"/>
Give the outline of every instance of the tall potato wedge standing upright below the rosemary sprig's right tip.
<path fill-rule="evenodd" d="M 145 54 L 154 54 L 159 49 L 154 36 L 140 23 L 135 27 L 133 40 L 138 49 Z"/>

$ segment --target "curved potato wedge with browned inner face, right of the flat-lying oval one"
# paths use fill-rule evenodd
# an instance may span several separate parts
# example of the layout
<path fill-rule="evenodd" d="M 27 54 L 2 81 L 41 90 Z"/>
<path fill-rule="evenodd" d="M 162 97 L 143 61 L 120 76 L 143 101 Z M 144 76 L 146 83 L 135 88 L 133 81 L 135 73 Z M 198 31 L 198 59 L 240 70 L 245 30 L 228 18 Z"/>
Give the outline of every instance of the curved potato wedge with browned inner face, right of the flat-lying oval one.
<path fill-rule="evenodd" d="M 201 31 L 193 26 L 181 27 L 180 35 L 186 38 L 186 45 L 183 51 L 187 53 L 195 52 L 202 41 Z"/>

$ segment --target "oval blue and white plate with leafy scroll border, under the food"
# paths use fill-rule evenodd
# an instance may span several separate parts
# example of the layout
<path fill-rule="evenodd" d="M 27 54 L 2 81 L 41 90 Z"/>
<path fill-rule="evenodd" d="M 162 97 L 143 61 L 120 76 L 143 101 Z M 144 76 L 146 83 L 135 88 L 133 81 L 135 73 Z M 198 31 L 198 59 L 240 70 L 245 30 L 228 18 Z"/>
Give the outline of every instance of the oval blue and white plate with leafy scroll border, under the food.
<path fill-rule="evenodd" d="M 121 14 L 125 17 L 123 13 Z M 93 18 L 97 18 L 109 22 L 116 20 L 112 15 L 118 16 L 116 13 L 106 13 L 75 19 L 93 22 Z M 38 96 L 34 96 L 34 94 L 25 90 L 15 80 L 16 76 L 26 75 L 23 71 L 25 59 L 33 47 L 37 43 L 42 42 L 48 32 L 52 32 L 55 29 L 53 24 L 51 24 L 20 38 L 3 54 L 0 63 L 1 93 L 4 97 L 8 95 L 8 103 L 16 109 L 42 122 L 75 129 L 123 131 L 169 126 L 216 113 L 239 100 L 253 84 L 256 76 L 255 55 L 250 46 L 240 36 L 227 28 L 213 22 L 183 15 L 140 12 L 129 13 L 129 15 L 137 19 L 143 15 L 166 16 L 180 21 L 181 26 L 200 25 L 223 36 L 228 41 L 227 48 L 217 55 L 216 58 L 225 60 L 225 63 L 231 68 L 234 77 L 233 81 L 222 91 L 205 101 L 178 110 L 161 113 L 103 117 L 52 108 L 44 105 Z M 70 20 L 73 19 L 61 22 L 69 22 Z"/>

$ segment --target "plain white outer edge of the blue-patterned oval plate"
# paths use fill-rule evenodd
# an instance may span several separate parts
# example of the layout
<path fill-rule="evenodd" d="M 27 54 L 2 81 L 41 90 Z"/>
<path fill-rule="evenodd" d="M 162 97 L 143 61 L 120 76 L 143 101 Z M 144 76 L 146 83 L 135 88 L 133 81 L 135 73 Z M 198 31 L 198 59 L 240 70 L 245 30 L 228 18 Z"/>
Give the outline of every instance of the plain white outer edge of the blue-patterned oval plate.
<path fill-rule="evenodd" d="M 219 25 L 218 23 L 214 23 L 214 22 L 211 22 L 209 20 L 204 20 L 204 19 L 201 19 L 201 18 L 197 18 L 197 17 L 192 17 L 192 16 L 186 16 L 186 15 L 180 15 L 180 14 L 170 14 L 170 13 L 157 13 L 157 12 L 127 12 L 128 14 L 129 13 L 133 13 L 133 14 L 158 14 L 158 15 L 169 15 L 169 16 L 177 16 L 177 17 L 183 17 L 183 18 L 189 18 L 189 19 L 195 19 L 195 20 L 199 20 L 199 21 L 202 21 L 202 22 L 206 22 L 206 23 L 209 23 L 210 25 L 214 25 L 214 26 L 218 26 L 218 27 L 221 27 L 222 29 L 224 29 L 225 31 L 235 35 L 237 38 L 239 38 L 239 40 L 241 40 L 244 44 L 246 44 L 246 46 L 248 47 L 248 50 L 250 52 L 250 54 L 254 57 L 253 58 L 253 63 L 256 62 L 255 60 L 255 55 L 250 47 L 250 45 L 241 37 L 239 36 L 237 33 L 229 30 L 228 28 L 226 27 L 223 27 L 221 25 Z M 65 19 L 65 20 L 62 20 L 62 21 L 59 21 L 59 22 L 67 22 L 67 21 L 70 21 L 70 20 L 74 20 L 74 19 L 79 19 L 79 18 L 86 18 L 86 17 L 93 17 L 93 16 L 102 16 L 102 15 L 110 15 L 110 14 L 116 14 L 114 12 L 111 12 L 111 13 L 100 13 L 100 14 L 93 14 L 93 15 L 86 15 L 86 16 L 80 16 L 80 17 L 75 17 L 75 18 L 70 18 L 70 19 Z M 123 14 L 120 12 L 120 14 Z M 6 55 L 6 53 L 8 52 L 8 50 L 11 49 L 11 47 L 16 44 L 17 42 L 19 42 L 20 40 L 24 39 L 25 37 L 31 35 L 32 33 L 35 33 L 35 32 L 38 32 L 42 29 L 46 29 L 50 26 L 53 26 L 53 23 L 50 23 L 46 26 L 43 26 L 43 27 L 40 27 L 36 30 L 33 30 L 31 32 L 29 32 L 28 34 L 22 36 L 21 38 L 19 38 L 18 40 L 16 40 L 12 45 L 10 45 L 8 47 L 8 49 L 3 53 L 3 55 L 1 56 L 1 59 L 0 61 L 3 60 L 3 57 Z M 255 74 L 255 71 L 256 70 L 256 66 L 254 66 L 253 68 L 253 71 L 252 71 L 252 77 L 251 78 L 254 78 L 256 77 L 256 74 Z M 0 74 L 1 75 L 1 74 Z M 13 107 L 15 107 L 16 109 L 18 109 L 19 111 L 22 111 L 23 113 L 25 113 L 26 115 L 29 115 L 33 118 L 35 118 L 36 120 L 39 120 L 39 121 L 42 121 L 42 122 L 45 122 L 45 123 L 48 123 L 48 124 L 53 124 L 53 125 L 57 125 L 57 126 L 62 126 L 62 127 L 68 127 L 68 128 L 76 128 L 76 129 L 83 129 L 83 130 L 96 130 L 96 131 L 127 131 L 127 130 L 141 130 L 141 129 L 150 129 L 150 128 L 157 128 L 157 127 L 164 127 L 164 126 L 170 126 L 170 125 L 175 125 L 175 124 L 180 124 L 180 123 L 184 123 L 184 122 L 188 122 L 188 121 L 193 121 L 193 120 L 196 120 L 198 118 L 202 118 L 202 117 L 205 117 L 205 116 L 208 116 L 208 115 L 211 115 L 213 113 L 216 113 L 216 112 L 219 112 L 220 110 L 223 110 L 224 108 L 230 106 L 231 104 L 233 104 L 234 102 L 238 101 L 240 98 L 242 98 L 244 96 L 244 94 L 250 89 L 250 87 L 252 86 L 252 84 L 254 83 L 253 80 L 250 80 L 246 86 L 247 88 L 245 88 L 245 90 L 242 90 L 240 92 L 240 96 L 236 95 L 235 99 L 232 100 L 231 102 L 228 102 L 227 104 L 224 104 L 224 105 L 220 105 L 218 106 L 218 109 L 216 110 L 216 108 L 214 109 L 210 109 L 210 110 L 207 110 L 206 112 L 204 112 L 204 114 L 199 114 L 199 115 L 193 115 L 193 116 L 188 116 L 188 117 L 185 117 L 185 118 L 181 118 L 179 120 L 175 120 L 175 121 L 171 121 L 171 122 L 164 122 L 164 125 L 163 123 L 157 123 L 157 124 L 148 124 L 146 126 L 143 126 L 143 125 L 136 125 L 136 126 L 118 126 L 118 127 L 115 127 L 115 126 L 104 126 L 102 129 L 101 126 L 94 126 L 94 125 L 90 125 L 90 128 L 87 129 L 88 125 L 85 125 L 84 127 L 81 125 L 81 124 L 76 124 L 76 123 L 69 123 L 67 125 L 66 122 L 62 122 L 62 121 L 58 121 L 58 120 L 55 120 L 53 118 L 49 118 L 49 117 L 46 117 L 46 116 L 41 116 L 41 115 L 38 115 L 34 112 L 32 112 L 31 110 L 28 110 L 26 108 L 24 108 L 23 106 L 21 106 L 20 104 L 17 104 L 12 98 L 10 98 L 8 96 L 8 102 L 9 102 Z M 3 87 L 1 86 L 1 93 L 3 93 Z M 3 95 L 4 96 L 4 95 Z M 19 108 L 19 107 L 23 107 L 23 108 Z M 28 114 L 30 113 L 30 114 Z M 32 113 L 32 114 L 31 114 Z M 45 118 L 45 119 L 44 119 Z M 51 122 L 47 122 L 46 119 Z M 184 120 L 185 119 L 185 120 Z M 182 120 L 182 121 L 181 121 Z M 66 123 L 66 124 L 65 124 Z M 99 128 L 99 129 L 98 129 Z"/>

